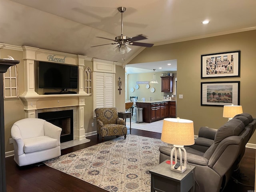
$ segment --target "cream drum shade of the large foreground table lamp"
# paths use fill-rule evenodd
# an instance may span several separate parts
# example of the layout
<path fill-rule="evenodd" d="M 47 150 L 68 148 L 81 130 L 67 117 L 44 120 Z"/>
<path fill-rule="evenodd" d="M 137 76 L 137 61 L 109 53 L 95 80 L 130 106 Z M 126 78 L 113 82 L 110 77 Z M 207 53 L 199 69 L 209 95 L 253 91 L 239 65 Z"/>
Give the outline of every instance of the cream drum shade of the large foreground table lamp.
<path fill-rule="evenodd" d="M 180 118 L 165 118 L 161 140 L 174 145 L 193 145 L 195 143 L 193 121 Z"/>

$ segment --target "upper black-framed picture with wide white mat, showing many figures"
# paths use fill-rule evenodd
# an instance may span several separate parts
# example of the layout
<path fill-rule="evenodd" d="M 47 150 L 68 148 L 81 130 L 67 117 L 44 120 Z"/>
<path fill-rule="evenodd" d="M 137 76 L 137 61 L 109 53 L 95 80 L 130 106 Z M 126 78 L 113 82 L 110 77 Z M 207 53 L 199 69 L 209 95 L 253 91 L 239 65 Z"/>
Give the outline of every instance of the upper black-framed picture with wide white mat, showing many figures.
<path fill-rule="evenodd" d="M 240 50 L 201 55 L 201 78 L 240 77 Z"/>

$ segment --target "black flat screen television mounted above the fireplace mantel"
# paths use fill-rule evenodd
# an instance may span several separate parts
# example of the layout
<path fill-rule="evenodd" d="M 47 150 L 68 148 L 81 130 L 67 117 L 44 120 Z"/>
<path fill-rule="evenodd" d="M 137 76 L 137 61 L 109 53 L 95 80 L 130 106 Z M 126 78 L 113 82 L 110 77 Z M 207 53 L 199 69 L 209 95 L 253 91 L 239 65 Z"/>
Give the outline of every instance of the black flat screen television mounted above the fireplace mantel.
<path fill-rule="evenodd" d="M 39 88 L 76 89 L 78 66 L 39 61 Z"/>

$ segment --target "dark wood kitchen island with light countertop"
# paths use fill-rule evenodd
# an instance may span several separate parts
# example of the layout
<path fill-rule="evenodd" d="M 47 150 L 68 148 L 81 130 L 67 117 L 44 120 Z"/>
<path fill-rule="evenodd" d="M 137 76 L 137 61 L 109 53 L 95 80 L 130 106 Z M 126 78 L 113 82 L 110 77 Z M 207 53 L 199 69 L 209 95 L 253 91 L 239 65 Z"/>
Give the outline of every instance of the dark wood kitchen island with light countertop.
<path fill-rule="evenodd" d="M 143 108 L 142 116 L 145 123 L 151 123 L 164 118 L 176 118 L 176 101 L 152 100 L 136 102 L 136 106 Z"/>

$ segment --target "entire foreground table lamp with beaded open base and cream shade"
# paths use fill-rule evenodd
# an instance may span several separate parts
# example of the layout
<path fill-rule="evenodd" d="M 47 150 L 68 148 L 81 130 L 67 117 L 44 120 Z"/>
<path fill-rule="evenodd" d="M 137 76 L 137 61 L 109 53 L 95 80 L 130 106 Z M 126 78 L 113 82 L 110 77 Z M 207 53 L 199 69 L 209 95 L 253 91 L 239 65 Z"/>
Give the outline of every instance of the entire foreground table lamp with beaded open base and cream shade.
<path fill-rule="evenodd" d="M 165 118 L 163 122 L 161 140 L 168 144 L 173 144 L 174 148 L 170 153 L 171 170 L 183 173 L 187 165 L 187 152 L 184 145 L 192 145 L 194 140 L 194 124 L 191 120 L 180 118 Z M 180 166 L 174 168 L 177 163 L 177 150 L 180 156 Z M 182 163 L 182 152 L 184 151 L 184 164 Z M 173 163 L 172 157 L 175 154 L 175 161 Z"/>

